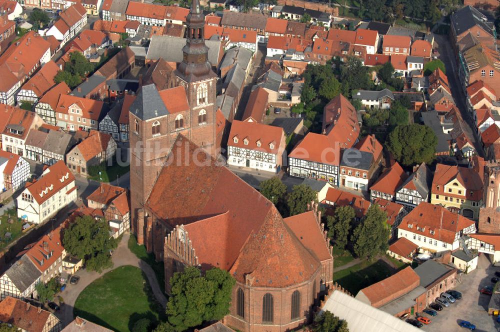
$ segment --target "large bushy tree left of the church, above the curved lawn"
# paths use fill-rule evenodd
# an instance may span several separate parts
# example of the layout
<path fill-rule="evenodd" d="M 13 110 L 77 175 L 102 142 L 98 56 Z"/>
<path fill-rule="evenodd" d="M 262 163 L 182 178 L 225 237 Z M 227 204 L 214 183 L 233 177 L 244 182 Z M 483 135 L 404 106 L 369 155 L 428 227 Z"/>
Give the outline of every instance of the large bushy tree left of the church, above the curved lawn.
<path fill-rule="evenodd" d="M 64 230 L 62 243 L 67 252 L 84 259 L 87 269 L 101 272 L 112 266 L 109 250 L 117 245 L 117 240 L 109 236 L 110 230 L 105 220 L 77 217 Z"/>

